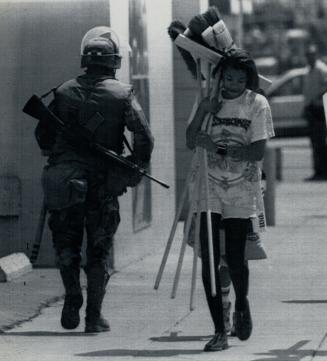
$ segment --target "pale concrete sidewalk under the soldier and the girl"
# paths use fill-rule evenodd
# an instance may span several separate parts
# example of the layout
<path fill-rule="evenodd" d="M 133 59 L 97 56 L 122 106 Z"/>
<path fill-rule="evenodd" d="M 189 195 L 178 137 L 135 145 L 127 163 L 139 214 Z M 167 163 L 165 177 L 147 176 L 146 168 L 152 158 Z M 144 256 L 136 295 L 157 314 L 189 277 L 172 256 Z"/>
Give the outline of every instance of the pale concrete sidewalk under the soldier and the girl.
<path fill-rule="evenodd" d="M 327 359 L 327 183 L 280 183 L 276 190 L 276 226 L 265 235 L 268 259 L 250 263 L 253 334 L 246 342 L 230 338 L 224 361 Z M 200 275 L 196 308 L 189 311 L 190 248 L 177 297 L 170 299 L 181 232 L 182 224 L 159 290 L 153 285 L 164 247 L 113 275 L 104 303 L 112 327 L 110 337 L 105 349 L 97 345 L 92 351 L 87 344 L 84 351 L 79 350 L 80 356 L 209 361 L 222 355 L 202 352 L 213 329 Z M 60 300 L 63 289 L 57 270 L 36 269 L 15 282 L 0 284 L 0 293 L 0 328 L 4 330 Z"/>

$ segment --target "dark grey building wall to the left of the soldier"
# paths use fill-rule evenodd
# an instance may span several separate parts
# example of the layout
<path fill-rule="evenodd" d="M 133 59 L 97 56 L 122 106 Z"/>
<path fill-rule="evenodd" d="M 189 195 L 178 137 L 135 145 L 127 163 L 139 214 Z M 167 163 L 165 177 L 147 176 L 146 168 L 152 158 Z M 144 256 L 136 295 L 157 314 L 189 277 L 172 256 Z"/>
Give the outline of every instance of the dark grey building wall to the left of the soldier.
<path fill-rule="evenodd" d="M 33 135 L 36 121 L 22 113 L 23 105 L 33 93 L 43 94 L 80 73 L 81 38 L 98 22 L 109 22 L 107 1 L 0 2 L 2 48 L 7 54 L 0 60 L 1 189 L 8 176 L 16 180 L 7 192 L 10 201 L 3 204 L 6 198 L 0 198 L 0 256 L 27 251 L 42 204 L 45 159 Z M 53 263 L 48 232 L 39 263 Z"/>

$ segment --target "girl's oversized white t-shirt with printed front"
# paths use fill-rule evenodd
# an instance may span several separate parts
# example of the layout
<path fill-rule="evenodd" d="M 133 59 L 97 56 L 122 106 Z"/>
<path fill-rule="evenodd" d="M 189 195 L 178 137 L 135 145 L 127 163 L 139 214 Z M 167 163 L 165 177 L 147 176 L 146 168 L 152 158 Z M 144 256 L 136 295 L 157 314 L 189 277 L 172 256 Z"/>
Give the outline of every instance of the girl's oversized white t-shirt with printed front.
<path fill-rule="evenodd" d="M 242 146 L 274 136 L 268 101 L 251 90 L 245 90 L 235 99 L 223 98 L 223 106 L 211 117 L 211 123 L 210 135 L 216 144 Z M 212 152 L 207 152 L 207 159 L 208 208 L 212 212 L 223 218 L 250 218 L 255 217 L 260 209 L 262 211 L 260 162 L 236 161 Z M 192 194 L 196 194 L 194 186 L 200 162 L 195 156 L 190 184 Z M 193 203 L 192 207 L 196 212 L 197 205 Z M 202 181 L 200 211 L 206 210 Z"/>

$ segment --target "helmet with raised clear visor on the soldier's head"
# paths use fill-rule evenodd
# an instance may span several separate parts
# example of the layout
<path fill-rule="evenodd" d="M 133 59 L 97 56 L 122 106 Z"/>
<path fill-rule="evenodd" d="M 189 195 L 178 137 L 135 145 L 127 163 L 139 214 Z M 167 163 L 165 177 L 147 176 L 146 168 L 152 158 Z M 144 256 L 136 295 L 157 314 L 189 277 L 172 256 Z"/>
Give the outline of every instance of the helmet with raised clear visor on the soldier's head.
<path fill-rule="evenodd" d="M 81 68 L 101 65 L 119 69 L 121 58 L 118 36 L 108 26 L 97 26 L 84 35 L 81 43 Z"/>

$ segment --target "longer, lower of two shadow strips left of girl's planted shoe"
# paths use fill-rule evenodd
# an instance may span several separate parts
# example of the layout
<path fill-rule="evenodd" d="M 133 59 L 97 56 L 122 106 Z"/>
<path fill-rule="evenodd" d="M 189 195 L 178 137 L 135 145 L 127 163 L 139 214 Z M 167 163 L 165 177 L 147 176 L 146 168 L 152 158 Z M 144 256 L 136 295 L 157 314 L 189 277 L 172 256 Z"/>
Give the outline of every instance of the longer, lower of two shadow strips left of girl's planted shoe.
<path fill-rule="evenodd" d="M 196 350 L 128 350 L 128 349 L 112 349 L 94 352 L 86 352 L 75 354 L 80 357 L 109 357 L 109 356 L 133 356 L 133 357 L 174 357 L 179 355 L 197 355 L 202 354 L 200 349 Z"/>

